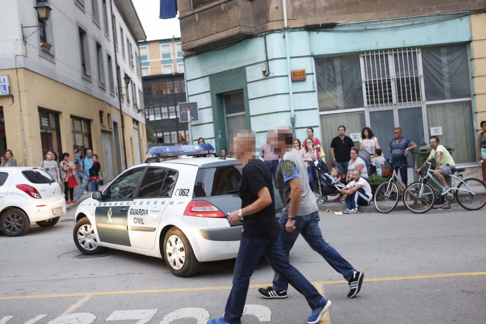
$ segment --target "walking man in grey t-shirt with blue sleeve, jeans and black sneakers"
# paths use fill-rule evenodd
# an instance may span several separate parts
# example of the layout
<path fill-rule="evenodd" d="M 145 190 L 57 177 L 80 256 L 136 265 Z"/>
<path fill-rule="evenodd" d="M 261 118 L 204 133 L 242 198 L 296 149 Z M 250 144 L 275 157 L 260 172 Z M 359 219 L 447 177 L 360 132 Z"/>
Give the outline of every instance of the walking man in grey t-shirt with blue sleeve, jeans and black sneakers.
<path fill-rule="evenodd" d="M 277 168 L 278 192 L 282 201 L 280 217 L 280 241 L 282 242 L 285 260 L 289 262 L 289 253 L 299 236 L 307 241 L 312 250 L 319 253 L 329 265 L 341 273 L 349 283 L 347 297 L 352 298 L 361 290 L 364 273 L 356 271 L 328 242 L 322 237 L 319 228 L 319 208 L 309 186 L 307 169 L 299 153 L 292 150 L 292 132 L 288 128 L 279 128 L 270 133 L 270 142 L 275 153 L 283 155 Z M 260 288 L 259 294 L 265 298 L 286 298 L 287 279 L 275 273 L 273 286 Z"/>

